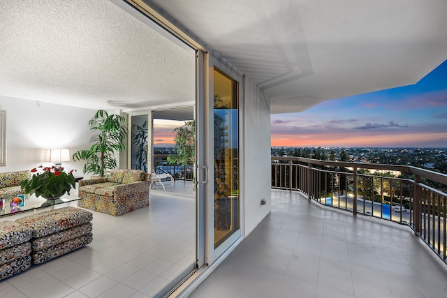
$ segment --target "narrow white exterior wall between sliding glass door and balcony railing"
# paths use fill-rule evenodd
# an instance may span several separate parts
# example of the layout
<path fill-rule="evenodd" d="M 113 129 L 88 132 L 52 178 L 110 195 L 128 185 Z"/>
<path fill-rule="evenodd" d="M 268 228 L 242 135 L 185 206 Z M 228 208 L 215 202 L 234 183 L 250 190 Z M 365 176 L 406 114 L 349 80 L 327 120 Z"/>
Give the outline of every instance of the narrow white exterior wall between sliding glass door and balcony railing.
<path fill-rule="evenodd" d="M 256 84 L 244 84 L 244 234 L 270 212 L 270 102 Z M 267 204 L 261 205 L 265 199 Z"/>

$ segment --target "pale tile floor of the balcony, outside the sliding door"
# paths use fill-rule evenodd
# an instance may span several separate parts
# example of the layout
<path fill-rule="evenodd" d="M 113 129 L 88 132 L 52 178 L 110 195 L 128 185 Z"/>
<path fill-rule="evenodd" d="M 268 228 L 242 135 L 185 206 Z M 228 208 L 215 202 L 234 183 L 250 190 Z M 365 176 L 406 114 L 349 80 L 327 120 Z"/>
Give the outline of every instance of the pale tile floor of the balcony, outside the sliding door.
<path fill-rule="evenodd" d="M 447 297 L 447 265 L 402 225 L 272 190 L 272 212 L 189 295 Z"/>

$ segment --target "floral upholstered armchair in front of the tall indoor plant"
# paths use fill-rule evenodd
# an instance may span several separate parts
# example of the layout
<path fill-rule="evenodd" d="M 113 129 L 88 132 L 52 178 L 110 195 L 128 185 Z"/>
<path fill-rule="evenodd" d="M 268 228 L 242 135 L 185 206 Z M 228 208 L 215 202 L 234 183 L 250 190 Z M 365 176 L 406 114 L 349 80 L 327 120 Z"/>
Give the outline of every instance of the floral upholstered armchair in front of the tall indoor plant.
<path fill-rule="evenodd" d="M 108 177 L 79 181 L 78 207 L 120 216 L 149 206 L 150 174 L 142 170 L 110 170 Z"/>

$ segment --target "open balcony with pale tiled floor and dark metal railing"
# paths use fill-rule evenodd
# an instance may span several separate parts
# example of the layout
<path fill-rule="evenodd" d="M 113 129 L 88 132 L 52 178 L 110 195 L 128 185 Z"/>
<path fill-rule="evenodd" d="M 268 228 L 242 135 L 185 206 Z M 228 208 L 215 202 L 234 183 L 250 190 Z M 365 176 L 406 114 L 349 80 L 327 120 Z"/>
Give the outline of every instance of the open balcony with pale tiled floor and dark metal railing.
<path fill-rule="evenodd" d="M 415 177 L 395 179 L 353 163 L 280 160 L 272 211 L 189 297 L 446 297 L 446 195 L 420 182 L 446 184 L 445 175 L 361 165 Z"/>

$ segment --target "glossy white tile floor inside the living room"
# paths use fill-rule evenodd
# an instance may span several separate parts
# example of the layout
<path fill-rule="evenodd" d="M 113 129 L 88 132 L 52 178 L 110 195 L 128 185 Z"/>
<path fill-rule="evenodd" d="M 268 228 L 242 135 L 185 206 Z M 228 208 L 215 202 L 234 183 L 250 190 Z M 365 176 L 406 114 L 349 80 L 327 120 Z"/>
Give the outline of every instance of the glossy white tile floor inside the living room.
<path fill-rule="evenodd" d="M 154 296 L 196 259 L 192 184 L 175 192 L 154 189 L 148 208 L 122 216 L 95 212 L 91 244 L 0 281 L 0 297 Z"/>

